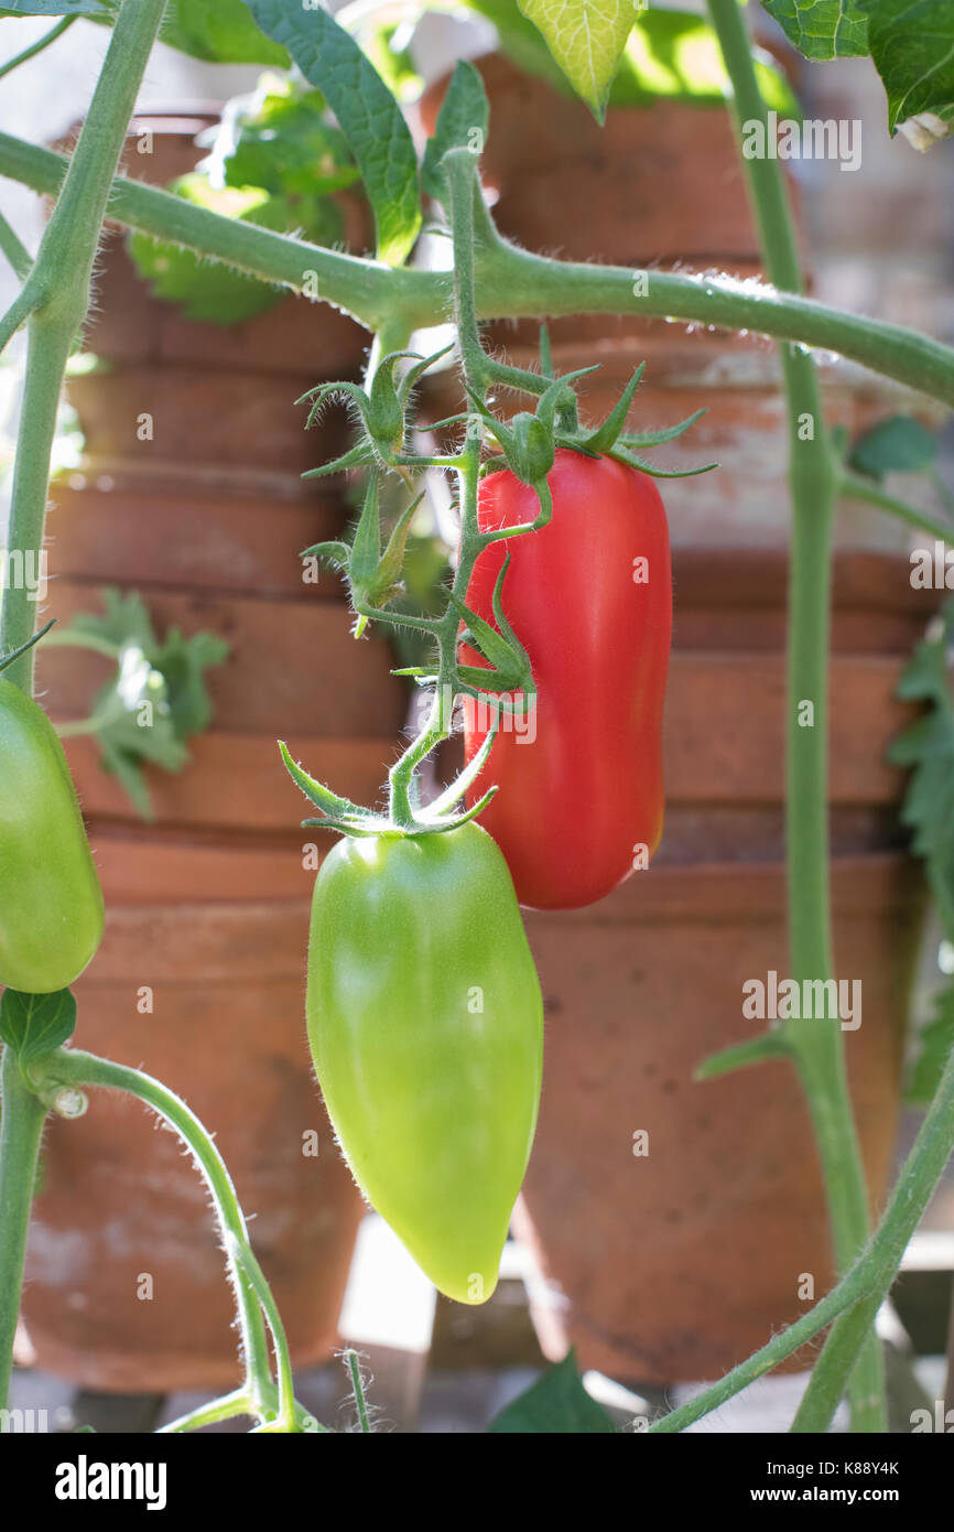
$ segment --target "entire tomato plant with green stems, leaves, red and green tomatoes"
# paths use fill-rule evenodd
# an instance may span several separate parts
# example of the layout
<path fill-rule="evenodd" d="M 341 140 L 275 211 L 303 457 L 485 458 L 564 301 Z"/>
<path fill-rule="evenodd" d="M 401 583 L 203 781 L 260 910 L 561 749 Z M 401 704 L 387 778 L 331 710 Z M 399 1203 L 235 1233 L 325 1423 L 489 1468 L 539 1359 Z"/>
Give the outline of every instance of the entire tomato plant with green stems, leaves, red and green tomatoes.
<path fill-rule="evenodd" d="M 643 480 L 646 464 L 634 449 L 655 446 L 684 429 L 642 438 L 623 432 L 637 374 L 609 418 L 586 435 L 571 388 L 576 374 L 560 375 L 548 346 L 541 348 L 539 369 L 492 355 L 481 343 L 481 322 L 613 313 L 637 325 L 691 322 L 756 331 L 779 342 L 792 489 L 789 948 L 792 970 L 807 982 L 825 984 L 833 973 L 825 771 L 835 506 L 841 493 L 851 495 L 933 533 L 940 544 L 952 539 L 948 521 L 897 501 L 870 478 L 865 483 L 871 467 L 885 463 L 882 452 L 862 453 L 853 464 L 861 472 L 850 472 L 844 441 L 825 421 L 815 352 L 836 352 L 948 406 L 954 404 L 954 352 L 929 336 L 838 313 L 804 293 L 786 188 L 772 152 L 784 139 L 775 144 L 782 124 L 769 107 L 781 103 L 764 93 L 766 72 L 737 0 L 707 0 L 711 26 L 672 14 L 643 18 L 637 15 L 642 6 L 600 8 L 593 0 L 522 3 L 519 17 L 518 8 L 499 0 L 472 3 L 499 20 L 515 57 L 536 60 L 533 67 L 541 67 L 542 60 L 542 72 L 582 95 L 600 119 L 613 100 L 614 77 L 616 100 L 632 103 L 657 89 L 669 93 L 675 86 L 681 93 L 688 75 L 700 72 L 703 90 L 691 93 L 730 103 L 767 283 L 665 271 L 652 259 L 658 251 L 651 250 L 648 268 L 634 271 L 596 260 L 554 260 L 510 242 L 495 227 L 479 185 L 488 104 L 478 72 L 469 64 L 455 70 L 436 130 L 418 162 L 409 123 L 369 51 L 348 29 L 378 28 L 374 6 L 346 6 L 340 20 L 319 3 L 300 0 L 205 0 L 202 6 L 184 0 L 20 0 L 9 12 L 61 20 L 0 64 L 3 75 L 54 43 L 80 15 L 115 26 L 115 32 L 69 158 L 0 135 L 3 175 L 54 199 L 35 253 L 0 218 L 0 247 L 20 280 L 0 319 L 0 349 L 21 326 L 29 329 L 5 548 L 14 578 L 6 579 L 5 568 L 0 610 L 0 668 L 9 665 L 8 674 L 20 688 L 14 692 L 8 682 L 0 685 L 0 980 L 11 987 L 0 1007 L 0 1406 L 43 1124 L 51 1111 L 81 1115 L 83 1089 L 96 1086 L 141 1097 L 181 1132 L 202 1167 L 221 1221 L 247 1376 L 239 1390 L 193 1411 L 173 1429 L 242 1414 L 254 1417 L 263 1432 L 315 1428 L 294 1400 L 280 1316 L 211 1138 L 159 1082 L 78 1048 L 63 1048 L 74 1002 L 51 993 L 89 961 L 103 928 L 103 908 L 63 754 L 29 700 L 28 650 L 37 608 L 23 568 L 43 550 L 60 389 L 89 311 L 107 213 L 110 221 L 135 230 L 139 241 L 158 241 L 167 254 L 176 254 L 175 271 L 155 268 L 168 293 L 194 297 L 198 280 L 208 297 L 205 279 L 213 277 L 211 288 L 222 276 L 208 267 L 211 259 L 237 274 L 243 302 L 250 282 L 265 282 L 270 290 L 294 288 L 311 300 L 335 305 L 374 336 L 361 385 L 354 378 L 343 385 L 320 381 L 312 394 L 315 409 L 329 391 L 345 394 L 361 424 L 357 444 L 314 472 L 360 467 L 369 481 L 354 539 L 319 550 L 348 579 L 358 617 L 355 636 L 369 622 L 386 622 L 412 630 L 424 645 L 430 668 L 421 663 L 409 671 L 429 691 L 427 715 L 389 771 L 383 809 L 355 806 L 314 783 L 288 757 L 286 763 L 320 810 L 317 821 L 306 823 L 345 835 L 320 872 L 314 895 L 308 1011 L 322 1083 L 361 1184 L 435 1281 L 466 1302 L 488 1296 L 533 1138 L 541 1086 L 541 994 L 499 846 L 507 849 L 521 896 L 559 908 L 602 896 L 626 876 L 634 858 L 639 863 L 643 852 L 648 858 L 658 841 L 668 547 L 662 501 Z M 946 35 L 945 0 L 917 6 L 859 0 L 847 8 L 847 18 L 841 6 L 792 6 L 790 0 L 766 0 L 766 9 L 778 15 L 789 40 L 807 57 L 870 52 L 885 83 L 891 133 L 897 129 L 910 142 L 928 147 L 949 132 L 951 70 L 940 67 L 931 52 L 937 52 L 934 38 Z M 807 9 L 813 12 L 809 29 L 802 15 Z M 409 41 L 407 28 L 392 28 L 392 20 L 386 18 L 387 38 L 395 44 L 389 78 Z M 167 43 L 196 57 L 294 64 L 306 81 L 303 113 L 289 115 L 276 103 L 263 121 L 245 124 L 250 132 L 239 133 L 237 153 L 217 156 L 231 162 L 224 176 L 231 190 L 245 188 L 250 178 L 256 185 L 270 182 L 259 185 L 262 198 L 253 187 L 251 199 L 254 210 L 265 201 L 280 201 L 277 211 L 271 207 L 274 219 L 253 219 L 245 198 L 239 204 L 248 216 L 230 219 L 216 211 L 222 205 L 216 198 L 196 202 L 168 196 L 116 175 L 161 26 Z M 678 70 L 663 70 L 666 81 L 657 84 L 662 77 L 655 54 L 669 58 L 674 41 L 692 46 L 677 49 L 686 55 Z M 380 46 L 374 52 L 383 57 Z M 700 54 L 701 70 L 689 69 L 689 55 Z M 337 119 L 335 142 L 340 132 L 346 144 L 345 175 L 351 179 L 354 159 L 368 193 L 375 221 L 372 259 L 280 231 L 302 224 L 305 233 L 331 239 L 323 216 L 317 222 L 305 216 L 328 214 L 315 199 L 343 184 L 338 156 L 332 152 L 331 162 L 325 162 L 323 149 L 334 149 L 325 107 Z M 265 144 L 283 147 L 273 138 L 279 121 L 286 129 L 297 121 L 299 135 L 297 150 L 282 155 L 280 164 L 271 149 L 263 152 Z M 784 130 L 799 126 L 786 123 Z M 841 146 L 841 130 L 838 139 Z M 322 159 L 320 185 L 315 153 Z M 407 264 L 424 216 L 435 211 L 423 208 L 421 187 L 444 210 L 453 274 L 436 270 L 439 262 Z M 271 222 L 279 227 L 270 228 Z M 184 259 L 181 251 L 187 253 Z M 233 285 L 231 277 L 227 285 Z M 271 302 L 271 291 L 253 291 L 253 299 L 256 306 Z M 407 406 L 413 385 L 436 357 L 426 360 L 407 348 L 415 334 L 444 325 L 452 306 L 469 400 L 467 417 L 458 417 L 458 423 L 466 418 L 467 424 L 456 449 L 432 455 L 424 450 L 423 434 L 412 429 Z M 202 308 L 210 313 L 205 303 Z M 217 302 L 211 314 L 222 317 Z M 417 365 L 407 366 L 412 355 Z M 499 389 L 531 395 L 536 414 L 524 411 L 510 424 L 496 418 L 492 404 Z M 459 561 L 444 610 L 436 610 L 441 596 L 432 610 L 415 613 L 395 602 L 407 596 L 403 579 L 417 506 L 412 496 L 415 481 L 427 470 L 452 478 Z M 390 486 L 397 481 L 407 489 L 409 504 L 381 547 L 378 481 L 386 475 Z M 502 553 L 505 542 L 508 556 Z M 144 653 L 141 659 L 149 663 L 152 656 Z M 931 700 L 936 717 L 905 737 L 902 755 L 922 768 L 908 820 L 920 832 L 919 846 L 929 856 L 946 905 L 949 858 L 945 861 L 943 847 L 939 853 L 936 846 L 949 829 L 949 815 L 942 812 L 946 778 L 943 771 L 934 771 L 939 740 L 946 748 L 949 725 L 945 659 L 943 643 L 933 640 L 931 653 L 920 654 L 907 677 L 908 696 Z M 181 663 L 181 669 L 188 666 Z M 142 668 L 139 679 L 149 683 Z M 501 700 L 507 692 L 533 697 L 530 711 L 508 714 Z M 473 725 L 464 772 L 436 803 L 429 803 L 418 769 L 452 732 L 459 696 L 478 706 L 481 696 L 493 699 L 496 729 L 479 720 Z M 812 705 L 810 728 L 799 717 L 805 702 Z M 130 751 L 133 725 L 129 717 L 121 722 L 130 732 L 123 735 L 121 748 L 116 743 L 116 760 L 144 754 Z M 531 729 L 518 723 L 533 725 L 536 741 L 530 741 Z M 499 846 L 472 823 L 479 813 Z M 14 985 L 28 993 L 14 993 Z M 795 1429 L 824 1431 L 844 1394 L 851 1402 L 854 1429 L 880 1431 L 887 1423 L 873 1324 L 951 1152 L 954 1056 L 948 1048 L 943 1066 L 931 1066 L 925 1086 L 931 1105 L 877 1230 L 870 1229 L 870 1196 L 838 1031 L 786 1023 L 723 1049 L 698 1074 L 712 1077 L 779 1057 L 793 1065 L 809 1097 L 839 1281 L 789 1330 L 775 1333 L 721 1383 L 655 1422 L 654 1431 L 692 1423 L 825 1328 L 828 1337 Z"/>

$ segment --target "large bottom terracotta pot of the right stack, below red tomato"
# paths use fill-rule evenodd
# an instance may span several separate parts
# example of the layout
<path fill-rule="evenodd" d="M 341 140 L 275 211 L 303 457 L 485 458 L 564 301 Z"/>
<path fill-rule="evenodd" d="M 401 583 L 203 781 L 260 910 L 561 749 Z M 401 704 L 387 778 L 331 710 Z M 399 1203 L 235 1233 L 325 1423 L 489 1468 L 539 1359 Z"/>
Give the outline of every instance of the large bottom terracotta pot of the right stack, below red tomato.
<path fill-rule="evenodd" d="M 897 1120 L 920 915 L 903 856 L 835 864 L 836 971 L 862 980 L 847 1031 L 874 1204 Z M 545 1353 L 634 1383 L 721 1376 L 831 1282 L 824 1196 L 795 1072 L 707 1083 L 750 1037 L 743 982 L 786 974 L 781 866 L 655 867 L 574 915 L 528 915 L 545 994 L 544 1097 L 521 1232 Z M 804 1022 L 802 1025 L 821 1025 Z M 648 1154 L 634 1135 L 648 1132 Z M 804 1357 L 792 1365 L 805 1365 Z"/>

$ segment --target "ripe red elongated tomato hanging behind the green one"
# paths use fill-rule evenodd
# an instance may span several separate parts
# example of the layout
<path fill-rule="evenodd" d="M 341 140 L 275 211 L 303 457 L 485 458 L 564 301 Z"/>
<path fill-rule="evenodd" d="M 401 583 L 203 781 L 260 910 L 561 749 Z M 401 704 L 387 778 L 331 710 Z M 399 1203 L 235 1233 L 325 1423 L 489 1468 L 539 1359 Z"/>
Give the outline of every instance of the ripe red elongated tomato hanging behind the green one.
<path fill-rule="evenodd" d="M 499 792 L 481 823 L 504 852 L 521 904 L 593 904 L 648 864 L 663 832 L 662 725 L 672 628 L 666 512 L 649 475 L 560 449 L 553 519 L 479 555 L 467 605 L 502 610 L 537 685 L 528 719 L 504 719 L 469 803 Z M 482 532 L 533 521 L 539 502 L 508 470 L 481 484 Z M 485 665 L 462 645 L 467 663 Z M 466 703 L 470 760 L 493 722 Z"/>

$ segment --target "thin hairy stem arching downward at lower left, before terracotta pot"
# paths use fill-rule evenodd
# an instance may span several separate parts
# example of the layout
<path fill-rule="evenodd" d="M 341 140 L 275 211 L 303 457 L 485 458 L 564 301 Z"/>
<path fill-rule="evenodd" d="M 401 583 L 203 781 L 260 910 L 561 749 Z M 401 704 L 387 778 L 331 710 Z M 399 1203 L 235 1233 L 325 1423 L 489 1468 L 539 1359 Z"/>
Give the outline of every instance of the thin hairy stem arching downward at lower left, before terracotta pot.
<path fill-rule="evenodd" d="M 49 1089 L 57 1085 L 74 1085 L 78 1088 L 100 1085 L 107 1089 L 127 1091 L 130 1095 L 136 1095 L 141 1102 L 145 1102 L 159 1117 L 165 1118 L 188 1146 L 205 1177 L 216 1215 L 225 1235 L 227 1262 L 234 1284 L 239 1328 L 248 1368 L 247 1393 L 254 1402 L 256 1409 L 263 1413 L 268 1386 L 271 1386 L 273 1380 L 268 1340 L 256 1293 L 260 1272 L 257 1270 L 257 1262 L 248 1241 L 245 1218 L 225 1161 L 196 1114 L 173 1091 L 159 1080 L 153 1080 L 152 1075 L 142 1074 L 139 1069 L 130 1069 L 126 1065 L 112 1063 L 109 1059 L 98 1059 L 95 1054 L 81 1052 L 78 1048 L 60 1048 L 31 1063 L 31 1083 L 35 1089 Z M 250 1273 L 253 1275 L 250 1276 Z M 288 1370 L 288 1376 L 291 1376 L 288 1348 L 280 1322 L 276 1324 L 273 1334 L 279 1367 L 280 1370 Z"/>

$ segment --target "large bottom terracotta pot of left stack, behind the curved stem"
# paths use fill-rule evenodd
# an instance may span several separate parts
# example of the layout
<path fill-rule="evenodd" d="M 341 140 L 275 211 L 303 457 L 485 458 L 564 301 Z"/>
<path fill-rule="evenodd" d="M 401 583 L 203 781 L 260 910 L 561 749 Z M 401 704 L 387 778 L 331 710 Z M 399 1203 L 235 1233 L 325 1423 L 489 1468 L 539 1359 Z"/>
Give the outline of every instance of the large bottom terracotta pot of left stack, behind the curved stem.
<path fill-rule="evenodd" d="M 302 898 L 113 905 L 75 987 L 78 1042 L 147 1069 L 214 1132 L 299 1367 L 337 1342 L 363 1213 L 308 1057 L 306 933 Z M 239 1380 L 205 1186 L 129 1097 L 96 1091 L 83 1120 L 51 1123 L 23 1319 L 37 1365 L 86 1388 Z"/>

